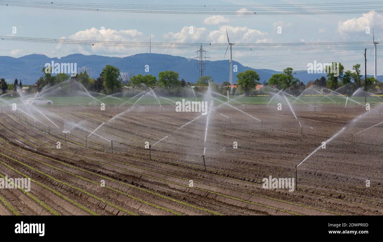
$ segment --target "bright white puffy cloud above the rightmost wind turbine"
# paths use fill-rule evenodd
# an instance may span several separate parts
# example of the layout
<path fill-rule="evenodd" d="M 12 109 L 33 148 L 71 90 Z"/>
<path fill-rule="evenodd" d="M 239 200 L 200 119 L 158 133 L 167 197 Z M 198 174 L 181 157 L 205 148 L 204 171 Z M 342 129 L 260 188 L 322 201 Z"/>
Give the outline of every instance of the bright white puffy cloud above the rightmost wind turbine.
<path fill-rule="evenodd" d="M 375 11 L 370 11 L 369 13 L 363 13 L 360 18 L 352 18 L 344 22 L 338 22 L 338 32 L 339 33 L 351 33 L 366 31 L 366 27 L 372 29 L 375 27 L 380 27 L 383 25 L 383 16 L 376 13 Z"/>

